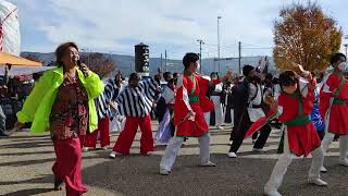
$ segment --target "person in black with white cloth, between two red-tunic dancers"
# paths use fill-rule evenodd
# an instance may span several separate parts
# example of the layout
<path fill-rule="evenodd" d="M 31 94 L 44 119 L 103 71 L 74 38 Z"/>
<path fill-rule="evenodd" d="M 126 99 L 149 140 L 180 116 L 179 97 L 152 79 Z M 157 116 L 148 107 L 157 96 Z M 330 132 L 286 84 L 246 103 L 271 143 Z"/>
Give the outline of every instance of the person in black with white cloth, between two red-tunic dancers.
<path fill-rule="evenodd" d="M 248 128 L 252 122 L 264 117 L 264 112 L 261 109 L 261 103 L 263 102 L 262 88 L 256 69 L 251 65 L 245 65 L 243 68 L 243 74 L 245 79 L 236 88 L 234 127 L 231 134 L 233 142 L 227 154 L 229 158 L 237 158 L 237 151 L 243 144 Z M 271 128 L 269 128 L 269 126 L 260 130 L 260 136 L 253 145 L 254 151 L 263 150 L 262 148 L 270 133 Z"/>

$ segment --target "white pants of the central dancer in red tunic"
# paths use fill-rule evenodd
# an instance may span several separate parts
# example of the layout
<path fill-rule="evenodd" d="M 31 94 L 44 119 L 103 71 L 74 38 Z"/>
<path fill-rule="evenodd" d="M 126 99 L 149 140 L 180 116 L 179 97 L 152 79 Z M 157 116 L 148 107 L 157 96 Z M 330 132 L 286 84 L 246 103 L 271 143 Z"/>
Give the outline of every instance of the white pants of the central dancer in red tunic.
<path fill-rule="evenodd" d="M 198 137 L 199 142 L 199 149 L 200 149 L 200 163 L 207 163 L 210 161 L 210 151 L 209 151 L 209 145 L 210 145 L 210 135 L 206 134 L 201 137 Z M 167 146 L 165 148 L 165 152 L 162 157 L 160 168 L 171 171 L 172 167 L 174 164 L 175 158 L 178 154 L 178 150 L 181 149 L 182 145 L 184 143 L 184 137 L 177 137 L 174 136 L 171 138 L 171 140 L 167 143 Z"/>

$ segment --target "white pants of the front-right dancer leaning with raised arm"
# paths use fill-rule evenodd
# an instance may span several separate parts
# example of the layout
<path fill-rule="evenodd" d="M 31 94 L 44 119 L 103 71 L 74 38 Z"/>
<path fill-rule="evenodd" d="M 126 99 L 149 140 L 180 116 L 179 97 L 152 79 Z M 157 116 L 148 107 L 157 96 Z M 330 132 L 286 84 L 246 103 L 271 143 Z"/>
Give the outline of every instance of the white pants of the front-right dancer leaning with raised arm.
<path fill-rule="evenodd" d="M 269 182 L 265 184 L 265 192 L 277 191 L 282 185 L 283 177 L 287 171 L 287 167 L 291 163 L 293 159 L 296 157 L 290 152 L 287 139 L 287 131 L 285 130 L 284 137 L 284 154 L 281 155 L 278 161 L 275 163 L 271 177 Z M 310 179 L 320 179 L 320 168 L 324 161 L 324 152 L 323 148 L 319 147 L 311 152 L 312 155 L 312 164 L 309 170 Z"/>

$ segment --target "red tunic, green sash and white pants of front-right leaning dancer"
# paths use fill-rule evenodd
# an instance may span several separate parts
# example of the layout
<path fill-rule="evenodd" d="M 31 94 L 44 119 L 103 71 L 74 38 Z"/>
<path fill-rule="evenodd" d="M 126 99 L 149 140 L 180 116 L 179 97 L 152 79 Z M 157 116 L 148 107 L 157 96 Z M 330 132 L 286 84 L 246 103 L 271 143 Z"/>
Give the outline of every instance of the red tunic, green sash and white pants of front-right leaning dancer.
<path fill-rule="evenodd" d="M 312 155 L 309 171 L 311 183 L 325 183 L 320 180 L 320 169 L 324 161 L 323 148 L 309 114 L 313 108 L 314 96 L 310 86 L 315 82 L 299 81 L 298 89 L 293 95 L 282 93 L 278 97 L 279 120 L 284 123 L 284 154 L 273 168 L 270 180 L 264 186 L 266 195 L 281 195 L 277 189 L 283 177 L 296 156 Z"/>

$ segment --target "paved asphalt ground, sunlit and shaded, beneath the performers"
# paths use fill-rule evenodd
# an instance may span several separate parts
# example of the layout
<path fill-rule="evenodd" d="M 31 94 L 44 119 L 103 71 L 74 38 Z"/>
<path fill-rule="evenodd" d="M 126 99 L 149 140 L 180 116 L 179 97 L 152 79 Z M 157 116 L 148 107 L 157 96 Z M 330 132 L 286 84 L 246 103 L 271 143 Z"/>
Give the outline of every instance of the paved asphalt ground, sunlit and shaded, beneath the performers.
<path fill-rule="evenodd" d="M 153 130 L 157 124 L 153 123 Z M 181 150 L 171 175 L 159 174 L 159 163 L 164 147 L 157 147 L 153 156 L 139 155 L 139 134 L 132 147 L 132 155 L 109 159 L 110 150 L 84 152 L 83 181 L 88 186 L 87 196 L 109 195 L 262 195 L 276 161 L 279 132 L 274 130 L 265 154 L 251 151 L 247 139 L 237 159 L 226 152 L 231 126 L 225 131 L 211 128 L 211 160 L 216 168 L 199 168 L 197 139 L 190 138 Z M 112 145 L 116 139 L 112 136 Z M 328 187 L 307 183 L 311 159 L 294 160 L 279 189 L 284 195 L 348 195 L 348 168 L 338 164 L 337 143 L 331 146 L 325 160 L 328 172 L 323 180 Z M 5 196 L 63 196 L 64 191 L 53 192 L 51 166 L 54 161 L 52 143 L 47 135 L 30 136 L 27 132 L 0 138 L 0 195 Z"/>

